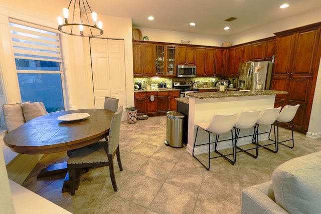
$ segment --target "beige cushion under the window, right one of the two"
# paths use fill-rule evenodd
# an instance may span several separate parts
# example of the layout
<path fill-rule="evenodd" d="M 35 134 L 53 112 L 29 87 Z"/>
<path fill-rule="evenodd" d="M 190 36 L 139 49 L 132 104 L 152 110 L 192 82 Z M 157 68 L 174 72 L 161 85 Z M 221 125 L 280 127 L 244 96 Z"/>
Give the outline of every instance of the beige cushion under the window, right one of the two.
<path fill-rule="evenodd" d="M 48 114 L 43 102 L 24 103 L 23 112 L 24 112 L 26 122 L 36 117 L 40 117 L 42 115 Z"/>

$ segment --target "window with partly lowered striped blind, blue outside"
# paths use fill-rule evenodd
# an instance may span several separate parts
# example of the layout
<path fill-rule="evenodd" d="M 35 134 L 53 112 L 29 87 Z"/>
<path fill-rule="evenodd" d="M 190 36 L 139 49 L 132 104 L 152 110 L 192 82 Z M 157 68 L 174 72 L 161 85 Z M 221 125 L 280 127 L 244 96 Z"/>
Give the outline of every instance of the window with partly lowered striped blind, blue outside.
<path fill-rule="evenodd" d="M 59 34 L 10 22 L 22 102 L 44 102 L 48 112 L 65 109 Z"/>

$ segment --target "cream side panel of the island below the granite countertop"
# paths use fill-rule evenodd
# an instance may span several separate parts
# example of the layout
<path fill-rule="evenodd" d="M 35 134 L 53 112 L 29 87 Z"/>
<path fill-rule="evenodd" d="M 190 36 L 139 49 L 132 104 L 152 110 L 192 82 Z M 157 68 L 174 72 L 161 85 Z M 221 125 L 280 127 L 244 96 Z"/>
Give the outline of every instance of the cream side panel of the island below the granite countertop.
<path fill-rule="evenodd" d="M 198 123 L 210 122 L 215 114 L 240 113 L 243 110 L 263 110 L 265 108 L 274 108 L 275 94 L 241 97 L 222 97 L 198 99 L 189 98 L 189 121 L 188 121 L 188 144 L 187 150 L 192 154 L 195 134 Z M 269 126 L 260 126 L 260 133 L 269 131 Z M 200 132 L 200 131 L 199 131 Z M 247 136 L 253 133 L 253 129 L 244 130 L 241 136 Z M 215 135 L 214 135 L 215 136 Z M 230 139 L 230 132 L 223 134 L 222 139 Z M 221 139 L 221 138 L 220 138 Z M 260 135 L 260 140 L 267 140 L 268 134 Z M 197 138 L 197 144 L 207 143 L 208 135 L 206 132 L 200 132 Z M 252 137 L 244 137 L 238 140 L 238 145 L 252 143 Z M 230 148 L 231 141 L 224 141 L 218 144 L 218 150 Z M 195 149 L 195 154 L 208 152 L 208 146 L 199 146 Z"/>

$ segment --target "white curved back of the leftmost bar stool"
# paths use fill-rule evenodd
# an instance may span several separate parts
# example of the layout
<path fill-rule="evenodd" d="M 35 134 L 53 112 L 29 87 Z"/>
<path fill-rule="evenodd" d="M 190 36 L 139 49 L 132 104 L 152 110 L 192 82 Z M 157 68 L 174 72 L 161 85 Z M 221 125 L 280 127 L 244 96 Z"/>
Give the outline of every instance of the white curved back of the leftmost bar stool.
<path fill-rule="evenodd" d="M 216 114 L 213 116 L 208 128 L 206 130 L 223 134 L 230 131 L 235 125 L 237 119 L 237 112 L 233 114 Z"/>

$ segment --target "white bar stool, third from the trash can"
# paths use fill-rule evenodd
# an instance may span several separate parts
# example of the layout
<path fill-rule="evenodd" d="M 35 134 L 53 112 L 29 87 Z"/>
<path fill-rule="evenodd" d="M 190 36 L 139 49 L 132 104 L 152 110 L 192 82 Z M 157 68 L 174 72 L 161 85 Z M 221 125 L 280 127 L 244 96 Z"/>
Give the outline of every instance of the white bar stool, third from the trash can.
<path fill-rule="evenodd" d="M 260 125 L 271 125 L 275 122 L 277 116 L 279 115 L 281 111 L 281 106 L 278 108 L 266 108 L 264 109 L 259 118 L 256 121 L 255 124 L 255 128 L 254 128 L 254 135 L 256 135 L 256 143 L 258 144 L 258 146 L 263 147 L 271 152 L 276 153 L 278 151 L 278 143 L 276 141 L 276 136 L 274 135 L 274 143 L 270 143 L 270 144 L 266 144 L 266 145 L 261 145 L 259 144 L 259 134 L 264 134 L 264 133 L 268 133 L 268 132 L 264 132 L 264 133 L 259 133 L 259 126 Z M 274 126 L 273 126 L 274 127 Z M 270 131 L 271 132 L 271 131 Z M 275 133 L 275 127 L 274 127 L 274 133 Z M 272 150 L 270 148 L 267 148 L 266 146 L 268 145 L 272 145 L 275 144 L 275 150 Z"/>

